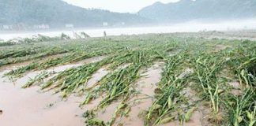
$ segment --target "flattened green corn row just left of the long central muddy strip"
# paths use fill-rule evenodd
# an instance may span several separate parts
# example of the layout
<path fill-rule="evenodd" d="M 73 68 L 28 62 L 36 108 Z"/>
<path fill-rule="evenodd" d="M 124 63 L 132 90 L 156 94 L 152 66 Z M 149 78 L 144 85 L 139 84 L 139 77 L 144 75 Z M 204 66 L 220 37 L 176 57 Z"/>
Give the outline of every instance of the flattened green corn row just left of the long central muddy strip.
<path fill-rule="evenodd" d="M 129 109 L 126 101 L 135 92 L 133 90 L 133 83 L 140 77 L 139 70 L 142 67 L 151 65 L 152 61 L 155 61 L 156 58 L 159 57 L 159 54 L 157 53 L 152 52 L 147 54 L 145 52 L 147 51 L 135 51 L 134 54 L 130 57 L 130 60 L 133 62 L 131 65 L 105 76 L 102 80 L 100 80 L 100 86 L 90 91 L 85 98 L 85 101 L 82 103 L 87 104 L 100 93 L 106 94 L 106 97 L 100 102 L 97 108 L 94 109 L 94 111 L 96 111 L 97 109 L 108 106 L 111 104 L 111 102 L 122 98 L 122 102 L 119 103 L 119 106 L 116 108 L 111 120 L 105 124 L 113 125 L 115 123 L 116 117 L 119 115 L 119 113 L 122 112 L 121 109 Z M 88 121 L 90 120 L 95 119 L 88 118 Z"/>

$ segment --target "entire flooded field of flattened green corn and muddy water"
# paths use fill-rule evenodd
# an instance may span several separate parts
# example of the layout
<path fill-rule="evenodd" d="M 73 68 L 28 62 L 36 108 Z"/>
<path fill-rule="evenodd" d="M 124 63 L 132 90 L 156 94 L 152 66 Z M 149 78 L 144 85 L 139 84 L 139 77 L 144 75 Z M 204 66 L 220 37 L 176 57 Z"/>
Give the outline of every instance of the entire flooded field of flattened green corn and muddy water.
<path fill-rule="evenodd" d="M 223 34 L 0 46 L 0 125 L 254 125 L 256 44 Z"/>

